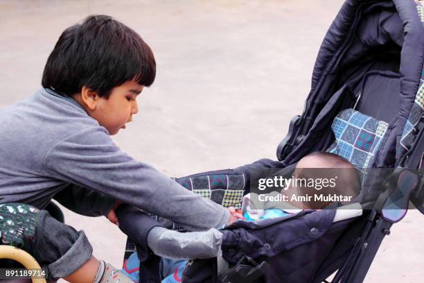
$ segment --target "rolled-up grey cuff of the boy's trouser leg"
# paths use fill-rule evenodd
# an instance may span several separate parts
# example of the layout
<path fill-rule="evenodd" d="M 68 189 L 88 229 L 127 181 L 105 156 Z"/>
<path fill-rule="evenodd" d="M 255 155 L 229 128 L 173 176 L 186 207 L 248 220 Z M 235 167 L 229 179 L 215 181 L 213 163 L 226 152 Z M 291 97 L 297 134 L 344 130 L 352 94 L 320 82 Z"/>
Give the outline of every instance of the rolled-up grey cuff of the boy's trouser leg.
<path fill-rule="evenodd" d="M 85 236 L 84 231 L 79 231 L 78 234 L 78 239 L 73 243 L 73 246 L 58 260 L 46 266 L 49 278 L 58 279 L 67 277 L 91 258 L 93 248 Z"/>

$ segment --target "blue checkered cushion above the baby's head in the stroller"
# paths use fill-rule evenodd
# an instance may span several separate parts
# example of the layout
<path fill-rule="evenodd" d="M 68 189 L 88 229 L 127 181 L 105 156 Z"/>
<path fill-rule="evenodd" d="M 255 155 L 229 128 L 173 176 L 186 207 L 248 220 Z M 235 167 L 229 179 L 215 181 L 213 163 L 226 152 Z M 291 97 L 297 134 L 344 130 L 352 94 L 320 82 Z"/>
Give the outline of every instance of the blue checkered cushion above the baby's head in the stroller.
<path fill-rule="evenodd" d="M 328 152 L 344 157 L 359 169 L 368 168 L 387 126 L 386 122 L 353 109 L 343 110 L 331 126 L 336 140 Z"/>

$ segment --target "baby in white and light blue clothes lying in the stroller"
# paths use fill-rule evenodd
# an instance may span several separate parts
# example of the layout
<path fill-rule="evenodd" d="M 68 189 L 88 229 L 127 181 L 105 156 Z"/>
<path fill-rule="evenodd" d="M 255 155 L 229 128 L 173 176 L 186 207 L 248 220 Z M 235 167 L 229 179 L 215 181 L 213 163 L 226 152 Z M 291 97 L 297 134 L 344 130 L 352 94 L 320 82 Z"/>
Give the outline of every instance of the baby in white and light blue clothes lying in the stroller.
<path fill-rule="evenodd" d="M 360 191 L 355 166 L 333 153 L 306 155 L 290 179 L 280 193 L 274 191 L 267 197 L 246 195 L 242 207 L 245 218 L 256 221 L 287 216 L 301 209 L 322 209 L 332 203 L 347 205 Z"/>

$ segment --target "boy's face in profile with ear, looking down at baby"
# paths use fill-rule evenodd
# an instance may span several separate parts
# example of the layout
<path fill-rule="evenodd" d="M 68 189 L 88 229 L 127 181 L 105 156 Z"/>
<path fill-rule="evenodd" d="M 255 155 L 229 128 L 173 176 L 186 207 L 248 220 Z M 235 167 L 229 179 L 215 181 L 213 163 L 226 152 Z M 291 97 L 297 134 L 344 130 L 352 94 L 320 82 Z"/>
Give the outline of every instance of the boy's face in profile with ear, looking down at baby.
<path fill-rule="evenodd" d="M 87 101 L 91 103 L 89 115 L 105 127 L 109 135 L 115 135 L 125 128 L 125 123 L 132 121 L 132 115 L 139 112 L 136 98 L 142 90 L 143 85 L 129 80 L 114 87 L 107 99 L 96 95 Z M 84 95 L 82 97 L 84 100 Z"/>

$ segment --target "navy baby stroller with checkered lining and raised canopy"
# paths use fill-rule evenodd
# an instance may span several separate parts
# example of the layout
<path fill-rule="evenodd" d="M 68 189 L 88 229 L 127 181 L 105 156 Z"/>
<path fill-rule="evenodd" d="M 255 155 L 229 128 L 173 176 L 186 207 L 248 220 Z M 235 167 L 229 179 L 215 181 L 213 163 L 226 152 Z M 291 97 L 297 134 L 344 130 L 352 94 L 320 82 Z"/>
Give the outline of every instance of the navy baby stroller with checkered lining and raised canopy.
<path fill-rule="evenodd" d="M 409 200 L 424 214 L 423 24 L 424 8 L 414 0 L 347 0 L 324 37 L 303 114 L 277 148 L 279 161 L 175 178 L 221 205 L 240 207 L 252 172 L 289 176 L 301 157 L 328 151 L 362 171 L 356 199 L 362 216 L 335 222 L 337 209 L 323 209 L 237 221 L 222 230 L 230 268 L 220 272 L 217 258 L 191 261 L 182 282 L 312 283 L 330 276 L 330 282 L 363 282 Z M 141 262 L 140 270 L 149 266 Z"/>

